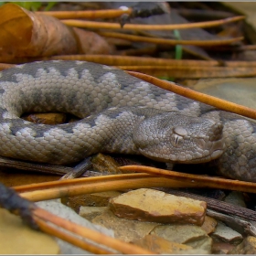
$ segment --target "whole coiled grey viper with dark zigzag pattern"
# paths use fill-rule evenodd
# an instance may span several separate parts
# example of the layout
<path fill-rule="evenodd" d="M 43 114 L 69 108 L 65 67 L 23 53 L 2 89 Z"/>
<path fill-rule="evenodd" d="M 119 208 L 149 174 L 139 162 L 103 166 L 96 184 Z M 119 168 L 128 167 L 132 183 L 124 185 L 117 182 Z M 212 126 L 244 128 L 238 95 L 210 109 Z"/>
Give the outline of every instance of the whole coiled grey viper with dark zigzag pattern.
<path fill-rule="evenodd" d="M 73 123 L 30 123 L 25 112 L 69 112 Z M 256 182 L 256 125 L 129 75 L 78 60 L 47 60 L 0 72 L 0 155 L 69 165 L 96 153 L 210 163 Z"/>

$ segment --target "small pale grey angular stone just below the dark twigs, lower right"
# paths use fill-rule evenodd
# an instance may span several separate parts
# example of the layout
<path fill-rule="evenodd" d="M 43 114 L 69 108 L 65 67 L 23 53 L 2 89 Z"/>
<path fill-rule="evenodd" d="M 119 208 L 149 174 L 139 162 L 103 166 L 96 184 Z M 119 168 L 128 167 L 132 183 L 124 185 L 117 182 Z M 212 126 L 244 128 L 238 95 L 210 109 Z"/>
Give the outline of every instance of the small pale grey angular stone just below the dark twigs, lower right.
<path fill-rule="evenodd" d="M 220 221 L 218 221 L 218 226 L 211 234 L 211 237 L 216 241 L 222 240 L 232 244 L 238 244 L 242 240 L 242 236 L 239 232 L 230 229 Z"/>

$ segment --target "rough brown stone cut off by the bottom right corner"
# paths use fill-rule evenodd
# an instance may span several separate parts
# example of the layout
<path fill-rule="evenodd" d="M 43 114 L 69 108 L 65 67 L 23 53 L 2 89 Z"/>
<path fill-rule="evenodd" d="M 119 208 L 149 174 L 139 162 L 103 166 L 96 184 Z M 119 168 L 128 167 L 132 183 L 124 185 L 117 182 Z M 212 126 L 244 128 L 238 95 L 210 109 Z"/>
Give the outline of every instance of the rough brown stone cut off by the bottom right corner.
<path fill-rule="evenodd" d="M 228 254 L 256 254 L 256 238 L 247 237 L 237 247 L 229 251 Z"/>

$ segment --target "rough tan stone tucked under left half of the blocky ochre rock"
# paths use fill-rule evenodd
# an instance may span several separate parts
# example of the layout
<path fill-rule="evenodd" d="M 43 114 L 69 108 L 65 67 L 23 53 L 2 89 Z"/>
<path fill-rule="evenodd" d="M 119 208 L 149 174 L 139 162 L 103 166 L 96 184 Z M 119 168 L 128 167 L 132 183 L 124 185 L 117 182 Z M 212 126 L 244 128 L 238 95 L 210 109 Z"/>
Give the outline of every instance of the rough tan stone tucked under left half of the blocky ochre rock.
<path fill-rule="evenodd" d="M 116 217 L 110 209 L 105 210 L 100 216 L 92 219 L 91 222 L 112 229 L 116 239 L 126 242 L 143 238 L 158 225 L 157 223 L 121 219 Z"/>

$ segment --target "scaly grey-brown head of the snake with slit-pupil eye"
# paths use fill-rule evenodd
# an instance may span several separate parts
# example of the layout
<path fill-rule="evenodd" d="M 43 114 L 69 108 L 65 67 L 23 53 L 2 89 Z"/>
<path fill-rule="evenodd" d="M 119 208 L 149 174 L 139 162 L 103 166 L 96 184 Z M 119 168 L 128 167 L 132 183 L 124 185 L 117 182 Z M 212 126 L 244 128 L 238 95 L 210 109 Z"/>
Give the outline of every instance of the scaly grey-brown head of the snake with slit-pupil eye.
<path fill-rule="evenodd" d="M 163 112 L 145 118 L 133 132 L 140 154 L 161 162 L 198 164 L 223 153 L 223 125 L 213 120 Z"/>

